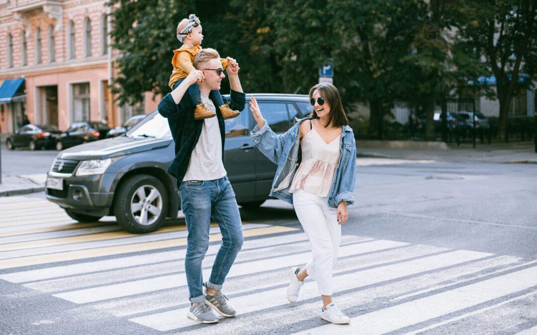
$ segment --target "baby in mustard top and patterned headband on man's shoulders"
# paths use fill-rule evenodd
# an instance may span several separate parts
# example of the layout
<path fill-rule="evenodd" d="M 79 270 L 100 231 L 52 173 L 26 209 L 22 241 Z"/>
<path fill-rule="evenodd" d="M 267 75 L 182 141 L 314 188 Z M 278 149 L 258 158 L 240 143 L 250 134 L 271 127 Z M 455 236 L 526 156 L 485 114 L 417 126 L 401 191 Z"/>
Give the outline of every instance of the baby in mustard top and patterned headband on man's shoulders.
<path fill-rule="evenodd" d="M 173 65 L 173 72 L 170 77 L 170 87 L 175 89 L 185 78 L 188 76 L 190 71 L 194 70 L 194 57 L 198 54 L 198 51 L 201 50 L 201 41 L 203 40 L 203 34 L 201 33 L 201 24 L 200 20 L 195 14 L 190 14 L 188 19 L 183 19 L 180 21 L 177 26 L 177 39 L 183 43 L 183 45 L 176 50 L 173 50 L 173 58 L 171 63 Z M 222 69 L 226 69 L 229 61 L 228 59 L 221 58 L 220 62 L 222 63 Z M 218 69 L 215 69 L 218 70 Z M 204 70 L 201 69 L 201 72 Z M 220 74 L 220 72 L 219 72 Z M 212 91 L 218 105 L 220 106 L 220 112 L 224 119 L 234 118 L 241 114 L 238 110 L 233 110 L 229 108 L 229 102 L 224 105 L 222 96 L 219 91 Z M 205 106 L 201 101 L 200 88 L 198 84 L 193 84 L 188 87 L 188 95 L 192 100 L 194 109 L 194 119 L 201 120 L 204 118 L 214 117 L 216 113 L 213 113 L 211 110 Z"/>

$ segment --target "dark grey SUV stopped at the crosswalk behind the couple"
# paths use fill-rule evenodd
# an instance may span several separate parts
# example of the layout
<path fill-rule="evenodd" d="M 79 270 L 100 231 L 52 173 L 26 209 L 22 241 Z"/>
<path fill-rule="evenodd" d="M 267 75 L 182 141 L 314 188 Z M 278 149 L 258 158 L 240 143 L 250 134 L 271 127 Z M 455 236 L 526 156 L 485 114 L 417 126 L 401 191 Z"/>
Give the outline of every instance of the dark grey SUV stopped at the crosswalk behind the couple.
<path fill-rule="evenodd" d="M 311 111 L 307 95 L 252 94 L 275 132 L 284 132 Z M 274 163 L 256 150 L 249 136 L 248 109 L 226 120 L 224 166 L 237 203 L 257 207 L 268 198 Z M 115 215 L 132 233 L 158 229 L 180 209 L 175 178 L 166 169 L 175 157 L 168 120 L 151 112 L 126 136 L 82 144 L 60 152 L 47 174 L 46 196 L 80 222 Z"/>

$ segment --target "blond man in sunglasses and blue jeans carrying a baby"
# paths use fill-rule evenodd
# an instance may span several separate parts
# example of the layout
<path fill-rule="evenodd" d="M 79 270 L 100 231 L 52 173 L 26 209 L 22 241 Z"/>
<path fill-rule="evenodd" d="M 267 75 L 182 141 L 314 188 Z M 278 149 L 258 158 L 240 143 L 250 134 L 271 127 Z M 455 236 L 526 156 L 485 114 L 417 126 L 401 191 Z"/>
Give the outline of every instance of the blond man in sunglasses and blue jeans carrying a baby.
<path fill-rule="evenodd" d="M 238 64 L 229 58 L 227 73 L 231 86 L 231 109 L 244 109 L 245 94 L 238 78 Z M 216 323 L 212 309 L 226 317 L 235 310 L 220 292 L 224 279 L 243 242 L 242 223 L 235 193 L 223 166 L 224 120 L 212 90 L 220 90 L 226 76 L 220 55 L 214 49 L 203 49 L 194 58 L 194 68 L 185 80 L 158 104 L 159 113 L 168 118 L 175 141 L 176 157 L 168 173 L 177 178 L 181 207 L 188 229 L 185 272 L 191 301 L 188 317 L 199 323 Z M 194 108 L 185 92 L 194 83 L 200 86 L 201 100 L 217 117 L 194 120 Z M 201 262 L 209 247 L 211 217 L 220 227 L 222 244 L 216 254 L 211 277 L 203 282 Z M 206 295 L 203 287 L 206 286 Z M 210 307 L 210 308 L 209 308 Z"/>

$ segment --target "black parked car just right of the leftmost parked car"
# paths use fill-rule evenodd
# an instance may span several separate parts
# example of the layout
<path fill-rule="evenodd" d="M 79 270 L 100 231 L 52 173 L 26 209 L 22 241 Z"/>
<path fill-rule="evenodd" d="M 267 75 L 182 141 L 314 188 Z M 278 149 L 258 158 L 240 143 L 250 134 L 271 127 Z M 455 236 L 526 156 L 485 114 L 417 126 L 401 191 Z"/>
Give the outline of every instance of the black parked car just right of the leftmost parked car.
<path fill-rule="evenodd" d="M 108 131 L 110 131 L 110 127 L 102 122 L 74 122 L 58 137 L 56 150 L 62 151 L 71 146 L 105 138 Z"/>

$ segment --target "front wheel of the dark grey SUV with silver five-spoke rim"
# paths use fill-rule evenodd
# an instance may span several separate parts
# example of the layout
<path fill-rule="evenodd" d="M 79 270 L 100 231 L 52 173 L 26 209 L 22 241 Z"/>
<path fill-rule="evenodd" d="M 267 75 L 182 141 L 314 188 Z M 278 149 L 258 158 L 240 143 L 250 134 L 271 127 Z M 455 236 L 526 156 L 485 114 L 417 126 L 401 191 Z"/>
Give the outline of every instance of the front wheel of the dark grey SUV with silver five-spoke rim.
<path fill-rule="evenodd" d="M 168 212 L 168 193 L 158 178 L 134 175 L 118 187 L 114 213 L 121 228 L 130 233 L 157 230 Z"/>

